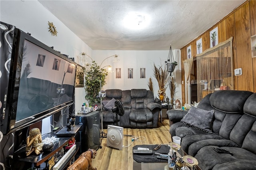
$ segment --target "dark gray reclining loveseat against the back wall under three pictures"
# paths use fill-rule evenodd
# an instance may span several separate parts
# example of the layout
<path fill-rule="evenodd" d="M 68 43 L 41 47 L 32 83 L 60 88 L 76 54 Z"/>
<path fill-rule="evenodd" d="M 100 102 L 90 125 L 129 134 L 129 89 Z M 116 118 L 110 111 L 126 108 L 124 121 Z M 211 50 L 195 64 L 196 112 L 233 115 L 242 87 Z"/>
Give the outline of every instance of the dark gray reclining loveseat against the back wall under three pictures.
<path fill-rule="evenodd" d="M 117 115 L 117 126 L 131 128 L 156 128 L 161 105 L 154 103 L 154 94 L 147 89 L 107 89 L 102 101 L 118 99 L 124 106 L 124 115 Z M 100 109 L 100 108 L 99 108 Z M 102 109 L 103 127 L 116 125 L 116 114 Z"/>

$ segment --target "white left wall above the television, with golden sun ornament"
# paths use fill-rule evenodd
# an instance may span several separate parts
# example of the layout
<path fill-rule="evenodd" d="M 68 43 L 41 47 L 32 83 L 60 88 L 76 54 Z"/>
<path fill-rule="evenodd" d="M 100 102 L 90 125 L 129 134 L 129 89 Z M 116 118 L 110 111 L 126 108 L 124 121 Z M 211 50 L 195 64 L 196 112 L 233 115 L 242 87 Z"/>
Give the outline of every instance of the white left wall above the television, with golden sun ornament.
<path fill-rule="evenodd" d="M 77 57 L 81 51 L 91 55 L 92 49 L 80 38 L 71 32 L 60 20 L 50 13 L 42 4 L 35 0 L 0 1 L 0 20 L 11 24 L 40 42 L 52 47 L 69 57 Z M 48 21 L 57 29 L 57 37 L 48 32 Z M 76 61 L 76 60 L 75 60 Z M 76 110 L 81 108 L 80 103 L 85 101 L 84 88 L 76 88 Z"/>

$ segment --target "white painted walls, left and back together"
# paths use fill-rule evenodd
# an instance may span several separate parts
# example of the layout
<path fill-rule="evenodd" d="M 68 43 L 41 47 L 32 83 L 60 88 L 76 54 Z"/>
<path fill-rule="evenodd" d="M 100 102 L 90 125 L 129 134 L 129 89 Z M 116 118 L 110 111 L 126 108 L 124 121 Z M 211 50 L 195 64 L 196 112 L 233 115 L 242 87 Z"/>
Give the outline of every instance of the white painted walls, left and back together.
<path fill-rule="evenodd" d="M 100 64 L 106 57 L 117 54 L 120 61 L 113 65 L 112 58 L 106 59 L 102 63 L 105 65 L 113 65 L 114 73 L 110 73 L 106 79 L 106 85 L 103 89 L 132 89 L 146 88 L 148 89 L 148 79 L 151 77 L 154 85 L 154 95 L 157 96 L 158 84 L 153 77 L 153 65 L 164 64 L 168 57 L 166 51 L 108 51 L 108 50 L 92 50 L 86 43 L 82 42 L 71 30 L 69 30 L 58 18 L 50 13 L 42 4 L 35 0 L 0 0 L 0 20 L 7 24 L 12 24 L 16 28 L 24 32 L 28 32 L 37 40 L 48 46 L 54 46 L 54 49 L 61 51 L 69 57 L 78 58 L 80 52 L 86 52 L 95 61 Z M 58 36 L 52 36 L 48 32 L 48 21 L 53 22 Z M 176 96 L 181 100 L 181 61 L 180 50 L 173 50 L 175 60 L 178 61 L 172 76 L 176 77 Z M 115 68 L 121 68 L 122 78 L 115 78 Z M 133 68 L 133 79 L 127 78 L 128 68 Z M 146 78 L 140 79 L 140 68 L 146 68 Z M 85 102 L 84 88 L 76 88 L 76 111 L 80 110 L 82 103 Z M 167 87 L 167 96 L 170 98 L 170 89 Z M 181 101 L 182 102 L 182 101 Z"/>

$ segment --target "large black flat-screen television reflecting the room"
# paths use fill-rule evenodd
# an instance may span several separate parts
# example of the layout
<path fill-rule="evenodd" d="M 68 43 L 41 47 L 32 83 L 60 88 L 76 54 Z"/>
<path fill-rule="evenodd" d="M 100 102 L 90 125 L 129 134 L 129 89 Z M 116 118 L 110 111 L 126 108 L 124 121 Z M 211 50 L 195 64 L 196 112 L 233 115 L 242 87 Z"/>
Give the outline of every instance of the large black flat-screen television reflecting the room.
<path fill-rule="evenodd" d="M 74 103 L 76 63 L 15 29 L 3 134 L 36 123 Z"/>

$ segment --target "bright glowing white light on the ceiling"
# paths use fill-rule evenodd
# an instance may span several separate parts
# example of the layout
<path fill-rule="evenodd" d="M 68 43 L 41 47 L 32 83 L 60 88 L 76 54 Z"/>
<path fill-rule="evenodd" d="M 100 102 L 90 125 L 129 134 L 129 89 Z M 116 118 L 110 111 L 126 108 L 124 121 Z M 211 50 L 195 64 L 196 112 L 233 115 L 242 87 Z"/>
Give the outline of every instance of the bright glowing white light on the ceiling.
<path fill-rule="evenodd" d="M 140 30 L 146 28 L 150 22 L 150 17 L 138 12 L 130 12 L 124 17 L 123 23 L 126 28 Z"/>

